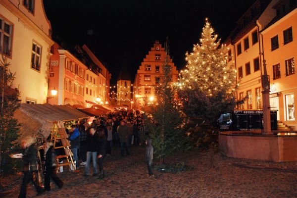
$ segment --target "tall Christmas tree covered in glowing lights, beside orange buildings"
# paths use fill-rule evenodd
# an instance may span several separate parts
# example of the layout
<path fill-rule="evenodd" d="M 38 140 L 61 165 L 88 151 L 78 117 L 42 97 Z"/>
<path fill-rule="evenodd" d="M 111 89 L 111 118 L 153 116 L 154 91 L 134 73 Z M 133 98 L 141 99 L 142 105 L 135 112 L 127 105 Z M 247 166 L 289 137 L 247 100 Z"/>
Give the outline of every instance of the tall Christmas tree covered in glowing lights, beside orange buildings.
<path fill-rule="evenodd" d="M 180 73 L 179 96 L 189 116 L 212 123 L 220 112 L 234 109 L 236 70 L 227 65 L 227 50 L 206 19 L 200 43 L 186 53 L 187 65 Z"/>

